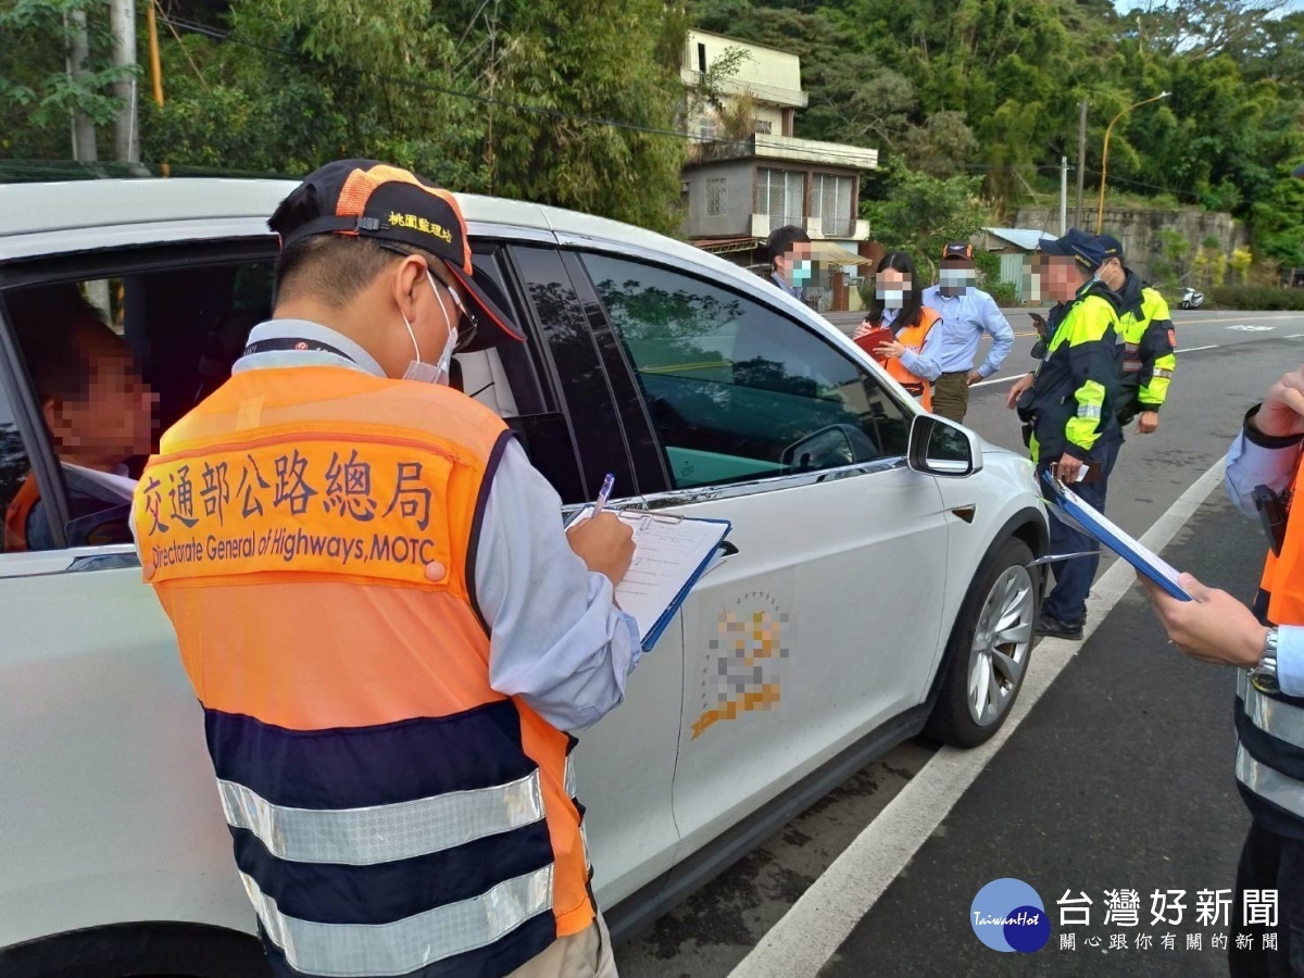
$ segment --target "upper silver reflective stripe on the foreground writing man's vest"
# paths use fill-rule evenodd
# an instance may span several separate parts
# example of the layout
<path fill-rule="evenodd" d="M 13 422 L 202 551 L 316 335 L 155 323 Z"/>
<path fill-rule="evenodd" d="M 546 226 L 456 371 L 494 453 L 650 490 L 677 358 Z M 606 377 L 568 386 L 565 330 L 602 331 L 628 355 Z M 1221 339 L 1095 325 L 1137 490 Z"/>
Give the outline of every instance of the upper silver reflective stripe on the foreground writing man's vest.
<path fill-rule="evenodd" d="M 293 862 L 373 866 L 438 853 L 544 818 L 537 769 L 496 788 L 370 808 L 287 808 L 233 781 L 218 780 L 218 790 L 228 824 L 253 832 L 273 855 Z"/>

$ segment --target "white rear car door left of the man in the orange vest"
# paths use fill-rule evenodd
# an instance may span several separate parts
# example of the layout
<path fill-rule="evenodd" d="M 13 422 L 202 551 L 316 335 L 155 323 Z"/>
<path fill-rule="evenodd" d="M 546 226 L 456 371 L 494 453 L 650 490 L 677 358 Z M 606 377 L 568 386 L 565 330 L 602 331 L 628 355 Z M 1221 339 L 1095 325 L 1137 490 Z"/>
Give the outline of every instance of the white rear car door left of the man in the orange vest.
<path fill-rule="evenodd" d="M 190 283 L 190 317 L 206 301 L 201 258 L 170 259 Z M 115 296 L 106 318 L 130 342 L 143 310 L 126 308 L 124 280 L 96 262 L 0 270 L 0 309 L 43 276 L 94 279 L 93 295 Z M 133 262 L 147 265 L 141 254 L 120 265 Z M 52 545 L 22 550 L 10 537 L 0 552 L 0 947 L 119 922 L 252 934 L 172 626 L 130 542 L 69 546 L 77 514 L 30 386 L 39 365 L 25 357 L 10 318 L 0 316 L 0 511 L 33 542 Z M 186 378 L 192 396 L 196 377 Z M 20 520 L 16 497 L 29 480 L 40 486 L 40 507 Z M 124 531 L 116 527 L 116 539 Z"/>

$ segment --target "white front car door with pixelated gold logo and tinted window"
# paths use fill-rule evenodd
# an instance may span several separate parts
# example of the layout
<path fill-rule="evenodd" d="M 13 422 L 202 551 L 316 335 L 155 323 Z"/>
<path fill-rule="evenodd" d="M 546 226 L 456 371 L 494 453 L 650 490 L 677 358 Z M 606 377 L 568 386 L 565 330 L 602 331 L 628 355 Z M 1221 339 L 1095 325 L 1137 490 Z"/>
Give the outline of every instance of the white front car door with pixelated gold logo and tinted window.
<path fill-rule="evenodd" d="M 729 519 L 738 549 L 682 612 L 685 854 L 921 703 L 947 518 L 904 463 L 913 412 L 763 283 L 579 261 L 636 381 L 630 425 L 645 419 L 664 462 L 647 505 Z"/>

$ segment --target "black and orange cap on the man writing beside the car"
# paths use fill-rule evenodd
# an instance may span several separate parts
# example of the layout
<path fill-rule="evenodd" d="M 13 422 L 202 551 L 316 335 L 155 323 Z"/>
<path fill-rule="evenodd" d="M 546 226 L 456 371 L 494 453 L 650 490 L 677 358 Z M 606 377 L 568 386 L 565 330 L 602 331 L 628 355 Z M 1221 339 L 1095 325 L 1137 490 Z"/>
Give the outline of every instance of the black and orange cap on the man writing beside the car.
<path fill-rule="evenodd" d="M 317 190 L 322 215 L 286 231 L 280 246 L 289 248 L 316 235 L 370 237 L 393 250 L 407 253 L 417 248 L 443 261 L 449 274 L 462 286 L 468 312 L 497 330 L 480 330 L 468 348 L 480 349 L 499 339 L 524 342 L 526 335 L 512 323 L 484 286 L 473 278 L 467 222 L 456 198 L 443 188 L 399 167 L 373 159 L 342 159 L 313 171 L 301 184 Z"/>

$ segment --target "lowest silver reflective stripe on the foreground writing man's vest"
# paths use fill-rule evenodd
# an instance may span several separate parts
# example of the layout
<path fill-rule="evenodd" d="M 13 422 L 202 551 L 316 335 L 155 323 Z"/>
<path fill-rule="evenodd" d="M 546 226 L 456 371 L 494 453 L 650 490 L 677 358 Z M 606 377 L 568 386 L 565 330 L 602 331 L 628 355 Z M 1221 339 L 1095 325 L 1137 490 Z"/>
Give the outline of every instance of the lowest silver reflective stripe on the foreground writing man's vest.
<path fill-rule="evenodd" d="M 402 975 L 493 944 L 553 906 L 553 867 L 499 883 L 486 893 L 393 923 L 314 923 L 287 917 L 240 874 L 267 938 L 291 966 L 330 978 Z"/>

